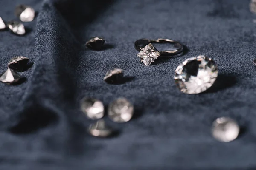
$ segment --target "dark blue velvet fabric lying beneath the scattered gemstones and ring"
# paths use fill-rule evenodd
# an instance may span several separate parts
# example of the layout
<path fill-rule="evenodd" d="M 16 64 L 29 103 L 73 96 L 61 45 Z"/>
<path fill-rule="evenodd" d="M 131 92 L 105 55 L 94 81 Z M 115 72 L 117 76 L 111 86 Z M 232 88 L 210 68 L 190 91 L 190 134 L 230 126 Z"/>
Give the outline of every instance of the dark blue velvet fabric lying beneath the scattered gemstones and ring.
<path fill-rule="evenodd" d="M 16 55 L 29 57 L 20 85 L 0 84 L 1 170 L 208 170 L 256 168 L 256 17 L 249 0 L 1 0 L 0 16 L 15 6 L 38 11 L 23 37 L 0 32 L 0 71 Z M 107 40 L 102 51 L 84 43 Z M 178 57 L 148 67 L 134 49 L 139 38 L 170 38 L 186 45 Z M 159 50 L 167 46 L 157 45 Z M 209 91 L 182 94 L 175 68 L 207 55 L 219 77 Z M 106 84 L 111 68 L 127 81 Z M 119 96 L 135 106 L 130 122 L 109 125 L 117 136 L 94 138 L 79 109 L 83 96 L 104 105 Z M 241 125 L 230 143 L 212 138 L 212 121 L 230 116 Z"/>

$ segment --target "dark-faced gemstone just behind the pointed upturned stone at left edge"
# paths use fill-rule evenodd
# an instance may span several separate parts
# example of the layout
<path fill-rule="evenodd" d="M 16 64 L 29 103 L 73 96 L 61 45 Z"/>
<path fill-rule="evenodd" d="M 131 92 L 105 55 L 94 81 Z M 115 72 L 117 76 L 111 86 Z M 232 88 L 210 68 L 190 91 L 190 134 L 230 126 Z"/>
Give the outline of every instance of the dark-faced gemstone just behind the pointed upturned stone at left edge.
<path fill-rule="evenodd" d="M 23 71 L 23 68 L 28 62 L 29 59 L 27 57 L 16 56 L 8 62 L 8 67 L 16 71 Z"/>

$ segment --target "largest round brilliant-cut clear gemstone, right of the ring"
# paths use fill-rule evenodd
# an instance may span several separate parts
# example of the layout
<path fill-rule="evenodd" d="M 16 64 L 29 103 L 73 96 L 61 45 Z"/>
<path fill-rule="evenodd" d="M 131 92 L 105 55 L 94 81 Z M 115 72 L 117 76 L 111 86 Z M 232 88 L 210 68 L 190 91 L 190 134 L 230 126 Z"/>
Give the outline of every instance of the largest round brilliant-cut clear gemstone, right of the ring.
<path fill-rule="evenodd" d="M 206 56 L 186 59 L 175 70 L 177 87 L 186 94 L 198 94 L 210 88 L 218 77 L 215 62 Z"/>

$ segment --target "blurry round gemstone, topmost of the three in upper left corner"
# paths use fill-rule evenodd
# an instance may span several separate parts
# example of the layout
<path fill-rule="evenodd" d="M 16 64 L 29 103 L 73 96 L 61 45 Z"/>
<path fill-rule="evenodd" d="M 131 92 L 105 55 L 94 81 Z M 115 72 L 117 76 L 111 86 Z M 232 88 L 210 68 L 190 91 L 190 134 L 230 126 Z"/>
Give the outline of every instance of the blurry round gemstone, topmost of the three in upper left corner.
<path fill-rule="evenodd" d="M 15 15 L 23 22 L 30 22 L 35 18 L 35 10 L 30 6 L 19 5 L 15 8 Z"/>

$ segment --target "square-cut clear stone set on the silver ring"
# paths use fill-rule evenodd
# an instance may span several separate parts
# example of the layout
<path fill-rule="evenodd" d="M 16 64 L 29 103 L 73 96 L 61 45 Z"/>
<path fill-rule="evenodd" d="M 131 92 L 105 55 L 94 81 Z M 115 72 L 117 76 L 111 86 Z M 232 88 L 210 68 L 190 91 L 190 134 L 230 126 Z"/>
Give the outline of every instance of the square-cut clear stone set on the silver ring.
<path fill-rule="evenodd" d="M 146 66 L 151 65 L 159 56 L 160 52 L 152 44 L 146 45 L 137 56 L 140 57 L 140 61 Z"/>

